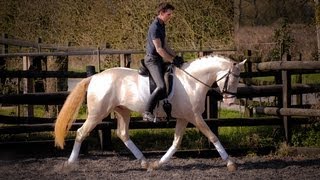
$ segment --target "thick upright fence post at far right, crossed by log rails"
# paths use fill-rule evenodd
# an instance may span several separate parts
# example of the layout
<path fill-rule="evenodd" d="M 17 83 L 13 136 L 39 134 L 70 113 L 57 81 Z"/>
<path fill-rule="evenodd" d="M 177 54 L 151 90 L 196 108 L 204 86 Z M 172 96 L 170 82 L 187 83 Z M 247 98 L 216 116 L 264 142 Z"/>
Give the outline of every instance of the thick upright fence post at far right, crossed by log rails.
<path fill-rule="evenodd" d="M 291 56 L 285 54 L 282 61 L 291 61 Z M 282 107 L 291 107 L 291 73 L 287 70 L 281 71 L 282 76 Z M 290 144 L 291 141 L 291 130 L 290 130 L 290 118 L 291 116 L 283 116 L 283 127 L 286 143 Z"/>

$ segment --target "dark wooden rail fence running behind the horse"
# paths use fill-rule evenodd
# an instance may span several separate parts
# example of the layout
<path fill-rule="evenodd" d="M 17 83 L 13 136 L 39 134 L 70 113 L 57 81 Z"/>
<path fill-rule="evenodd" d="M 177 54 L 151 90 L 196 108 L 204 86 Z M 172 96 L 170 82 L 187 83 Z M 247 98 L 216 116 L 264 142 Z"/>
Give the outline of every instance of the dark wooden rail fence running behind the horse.
<path fill-rule="evenodd" d="M 21 43 L 21 42 L 20 42 Z M 3 39 L 0 41 L 0 44 L 9 44 L 9 45 L 18 45 L 19 41 L 4 41 Z M 21 44 L 20 44 L 21 45 Z M 38 44 L 38 47 L 40 45 Z M 49 45 L 47 45 L 49 46 Z M 66 50 L 66 49 L 63 49 Z M 92 49 L 88 50 L 70 50 L 64 52 L 38 52 L 38 53 L 3 53 L 0 54 L 0 58 L 7 57 L 16 57 L 16 56 L 24 56 L 23 59 L 28 59 L 31 57 L 38 56 L 73 56 L 73 55 L 93 55 Z M 5 52 L 5 51 L 3 51 Z M 213 52 L 218 52 L 215 50 L 205 50 L 205 51 L 181 51 L 181 53 L 186 52 L 196 52 L 200 55 L 206 55 Z M 224 50 L 224 52 L 231 52 L 231 50 Z M 98 55 L 101 54 L 119 54 L 120 55 L 120 64 L 122 66 L 130 65 L 131 55 L 135 53 L 143 53 L 141 51 L 115 51 L 115 50 L 101 50 Z M 97 55 L 95 54 L 95 55 Z M 215 94 L 215 91 L 208 92 L 208 98 L 206 103 L 206 112 L 203 114 L 207 124 L 212 128 L 212 130 L 218 134 L 218 127 L 223 126 L 282 126 L 284 127 L 285 137 L 287 142 L 290 140 L 290 127 L 292 125 L 299 124 L 308 124 L 311 121 L 309 120 L 309 116 L 318 116 L 318 110 L 310 109 L 296 109 L 291 110 L 290 113 L 283 113 L 283 110 L 288 111 L 292 107 L 291 105 L 291 95 L 298 94 L 301 95 L 303 93 L 317 93 L 320 92 L 319 84 L 291 84 L 291 75 L 294 74 L 308 74 L 308 73 L 319 73 L 320 63 L 314 61 L 308 61 L 308 63 L 300 62 L 297 63 L 295 61 L 287 61 L 290 60 L 289 56 L 286 56 L 283 61 L 278 62 L 255 62 L 252 60 L 253 58 L 249 58 L 249 63 L 246 67 L 246 72 L 240 74 L 241 78 L 243 78 L 245 86 L 240 86 L 238 88 L 237 97 L 245 98 L 246 101 L 252 101 L 254 97 L 268 97 L 268 96 L 276 96 L 281 101 L 279 101 L 276 108 L 280 108 L 279 110 L 266 110 L 266 108 L 260 107 L 257 108 L 257 113 L 264 113 L 276 116 L 264 117 L 264 118 L 253 118 L 250 117 L 252 113 L 249 113 L 249 117 L 246 118 L 228 118 L 222 119 L 218 118 L 218 96 Z M 285 63 L 284 63 L 285 62 Z M 278 65 L 277 65 L 278 63 Z M 272 64 L 272 65 L 270 65 Z M 276 65 L 274 65 L 276 64 Z M 279 68 L 279 66 L 281 68 Z M 257 71 L 253 70 L 253 67 L 256 67 Z M 50 77 L 58 77 L 58 78 L 84 78 L 87 77 L 88 74 L 92 74 L 93 68 L 87 68 L 88 72 L 50 72 L 50 71 L 0 71 L 0 78 L 50 78 Z M 301 70 L 303 69 L 303 70 Z M 251 84 L 251 80 L 254 77 L 263 77 L 263 76 L 274 76 L 278 84 L 275 85 L 263 85 L 256 86 Z M 56 93 L 24 93 L 18 95 L 1 95 L 0 96 L 0 104 L 28 104 L 28 105 L 61 105 L 63 104 L 65 98 L 67 97 L 68 92 L 56 92 Z M 302 104 L 301 104 L 302 106 Z M 270 107 L 267 107 L 270 108 Z M 282 110 L 281 110 L 282 109 Z M 249 111 L 251 111 L 250 109 Z M 280 113 L 278 113 L 278 111 Z M 271 113 L 272 112 L 272 113 Z M 274 112 L 277 112 L 276 114 Z M 296 113 L 296 112 L 307 112 L 307 113 Z M 152 128 L 174 128 L 175 121 L 170 122 L 160 122 L 157 124 L 142 122 L 139 121 L 141 118 L 132 118 L 133 121 L 130 123 L 130 129 L 152 129 Z M 0 134 L 15 134 L 15 133 L 28 133 L 28 132 L 40 132 L 40 131 L 52 131 L 53 130 L 53 122 L 55 118 L 35 118 L 32 116 L 28 117 L 12 117 L 12 116 L 0 116 L 0 124 L 5 124 L 5 126 L 0 127 Z M 83 120 L 79 119 L 76 121 L 72 130 L 79 128 L 82 124 Z M 193 127 L 189 125 L 188 127 Z M 104 130 L 101 133 L 101 138 L 104 140 L 102 142 L 108 143 L 111 140 L 111 129 L 115 129 L 116 124 L 114 120 L 105 119 L 103 123 L 98 125 L 96 129 Z M 102 144 L 103 148 L 110 147 L 110 144 Z"/>

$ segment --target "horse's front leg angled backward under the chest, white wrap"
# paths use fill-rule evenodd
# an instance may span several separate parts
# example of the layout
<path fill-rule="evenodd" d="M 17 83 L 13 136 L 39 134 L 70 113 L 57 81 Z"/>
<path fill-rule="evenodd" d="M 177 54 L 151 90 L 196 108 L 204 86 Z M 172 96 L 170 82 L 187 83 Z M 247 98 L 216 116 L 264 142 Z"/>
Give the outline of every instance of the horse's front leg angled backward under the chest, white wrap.
<path fill-rule="evenodd" d="M 173 154 L 178 150 L 180 147 L 182 137 L 184 134 L 184 131 L 188 125 L 188 122 L 184 119 L 177 119 L 176 121 L 176 128 L 174 133 L 174 140 L 171 145 L 171 147 L 168 149 L 165 155 L 162 156 L 162 158 L 159 161 L 155 161 L 149 165 L 148 170 L 154 170 L 158 169 L 161 165 L 167 163 L 170 158 L 173 156 Z"/>

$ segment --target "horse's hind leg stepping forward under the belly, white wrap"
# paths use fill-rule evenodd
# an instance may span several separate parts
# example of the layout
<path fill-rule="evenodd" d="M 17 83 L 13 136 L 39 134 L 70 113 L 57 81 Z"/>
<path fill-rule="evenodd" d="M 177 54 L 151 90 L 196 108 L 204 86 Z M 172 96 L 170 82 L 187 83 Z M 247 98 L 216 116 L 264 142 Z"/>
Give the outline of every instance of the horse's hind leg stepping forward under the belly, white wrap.
<path fill-rule="evenodd" d="M 146 158 L 129 137 L 130 111 L 124 108 L 116 108 L 115 111 L 117 115 L 117 136 L 122 140 L 135 158 L 141 161 L 142 168 L 147 169 L 148 163 Z"/>

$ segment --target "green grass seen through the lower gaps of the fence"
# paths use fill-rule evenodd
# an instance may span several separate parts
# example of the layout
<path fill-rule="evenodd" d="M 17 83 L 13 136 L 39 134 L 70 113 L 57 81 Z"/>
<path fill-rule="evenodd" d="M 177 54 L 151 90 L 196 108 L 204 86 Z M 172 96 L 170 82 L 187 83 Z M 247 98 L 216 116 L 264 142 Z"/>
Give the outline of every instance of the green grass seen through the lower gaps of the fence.
<path fill-rule="evenodd" d="M 38 107 L 37 115 L 43 113 L 43 108 Z M 12 111 L 4 111 L 1 114 L 10 114 Z M 85 116 L 86 109 L 80 109 L 80 116 Z M 139 113 L 132 113 L 132 116 L 140 116 Z M 220 118 L 237 118 L 242 117 L 238 111 L 221 109 L 219 111 Z M 304 127 L 303 129 L 293 129 L 293 145 L 320 147 L 320 131 L 319 123 L 311 129 Z M 265 146 L 278 146 L 283 142 L 283 135 L 278 127 L 259 126 L 259 127 L 220 127 L 219 139 L 226 148 L 259 148 Z M 130 137 L 138 147 L 143 150 L 167 150 L 173 141 L 174 129 L 134 129 L 130 130 Z M 74 138 L 75 133 L 70 132 L 67 138 Z M 1 135 L 0 141 L 32 141 L 32 140 L 52 140 L 52 133 L 27 133 L 18 135 Z M 98 138 L 94 133 L 87 138 L 92 148 L 98 148 Z M 115 151 L 126 150 L 121 140 L 116 136 L 115 130 L 112 131 L 112 144 Z M 212 144 L 208 139 L 196 128 L 188 128 L 182 140 L 181 149 L 207 149 Z"/>

